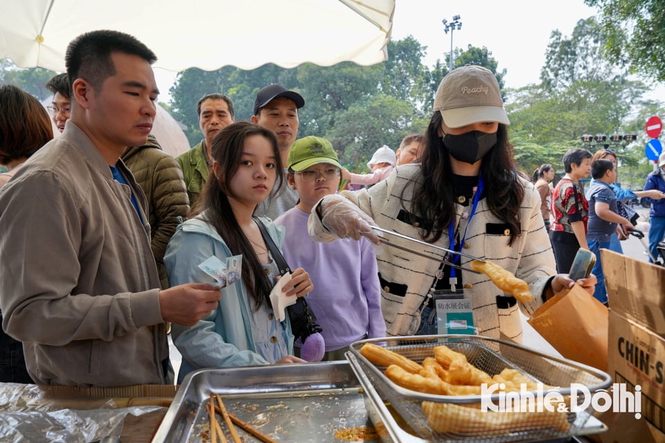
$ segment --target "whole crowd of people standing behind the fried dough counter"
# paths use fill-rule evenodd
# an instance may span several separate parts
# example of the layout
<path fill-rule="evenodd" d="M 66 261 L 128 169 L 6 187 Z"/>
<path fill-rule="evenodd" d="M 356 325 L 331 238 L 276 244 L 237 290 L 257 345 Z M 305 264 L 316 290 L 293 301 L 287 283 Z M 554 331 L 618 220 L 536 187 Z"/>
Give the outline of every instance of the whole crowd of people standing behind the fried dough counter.
<path fill-rule="evenodd" d="M 442 333 L 438 301 L 459 298 L 471 300 L 471 333 L 520 342 L 520 311 L 574 284 L 611 304 L 599 251 L 621 251 L 635 225 L 626 201 L 651 202 L 655 256 L 665 235 L 665 154 L 641 192 L 616 185 L 607 149 L 566 152 L 556 186 L 549 163 L 528 177 L 480 66 L 448 73 L 426 132 L 378 148 L 356 174 L 326 138 L 298 138 L 305 99 L 281 84 L 256 93 L 249 122 L 236 123 L 228 96 L 202 97 L 203 139 L 173 158 L 151 134 L 156 60 L 124 33 L 74 39 L 67 73 L 46 85 L 55 139 L 35 98 L 0 87 L 0 381 L 163 384 L 199 368 L 306 363 L 274 297 L 308 296 L 317 359 L 344 359 L 363 338 Z M 373 245 L 390 232 L 448 252 Z M 574 281 L 580 248 L 597 264 Z M 468 272 L 472 258 L 525 280 L 533 300 Z"/>

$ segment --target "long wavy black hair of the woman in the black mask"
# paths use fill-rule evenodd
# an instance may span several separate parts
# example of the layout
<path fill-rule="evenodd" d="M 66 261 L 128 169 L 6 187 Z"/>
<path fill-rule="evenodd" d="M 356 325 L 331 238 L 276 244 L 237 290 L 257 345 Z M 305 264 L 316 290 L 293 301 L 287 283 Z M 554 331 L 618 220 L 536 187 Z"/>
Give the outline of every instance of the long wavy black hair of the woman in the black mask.
<path fill-rule="evenodd" d="M 436 111 L 427 127 L 427 138 L 420 169 L 422 181 L 416 183 L 412 210 L 414 214 L 430 220 L 420 232 L 427 242 L 441 238 L 448 225 L 454 222 L 455 200 L 452 167 L 447 148 L 441 141 L 441 113 Z M 490 211 L 511 228 L 508 245 L 520 234 L 520 204 L 524 199 L 524 184 L 513 159 L 513 146 L 508 142 L 505 125 L 499 124 L 497 144 L 483 157 L 481 174 L 485 181 L 485 198 Z M 429 224 L 425 224 L 429 225 Z"/>

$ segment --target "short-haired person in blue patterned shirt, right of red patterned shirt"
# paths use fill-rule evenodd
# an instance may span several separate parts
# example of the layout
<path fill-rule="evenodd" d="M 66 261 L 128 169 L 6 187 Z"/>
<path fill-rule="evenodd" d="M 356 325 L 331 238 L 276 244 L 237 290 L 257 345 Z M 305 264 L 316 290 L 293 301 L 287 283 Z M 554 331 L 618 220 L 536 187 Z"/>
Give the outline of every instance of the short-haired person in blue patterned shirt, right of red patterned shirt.
<path fill-rule="evenodd" d="M 598 159 L 591 164 L 591 176 L 594 177 L 587 190 L 589 201 L 589 221 L 587 222 L 587 244 L 589 251 L 596 254 L 596 264 L 593 273 L 598 278 L 594 297 L 599 302 L 608 305 L 608 291 L 605 289 L 605 275 L 601 265 L 601 248 L 610 248 L 610 237 L 617 224 L 624 228 L 631 227 L 630 220 L 621 217 L 617 209 L 617 195 L 612 190 L 612 183 L 617 181 L 617 170 L 608 159 Z"/>

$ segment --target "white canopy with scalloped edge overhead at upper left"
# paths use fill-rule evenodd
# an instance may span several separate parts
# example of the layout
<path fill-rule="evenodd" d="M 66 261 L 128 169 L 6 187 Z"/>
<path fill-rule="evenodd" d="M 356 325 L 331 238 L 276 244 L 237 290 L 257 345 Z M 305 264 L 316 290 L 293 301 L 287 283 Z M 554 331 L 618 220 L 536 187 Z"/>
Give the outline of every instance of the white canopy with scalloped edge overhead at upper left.
<path fill-rule="evenodd" d="M 112 29 L 169 71 L 369 65 L 387 60 L 394 9 L 395 0 L 0 0 L 0 58 L 62 72 L 71 39 Z"/>

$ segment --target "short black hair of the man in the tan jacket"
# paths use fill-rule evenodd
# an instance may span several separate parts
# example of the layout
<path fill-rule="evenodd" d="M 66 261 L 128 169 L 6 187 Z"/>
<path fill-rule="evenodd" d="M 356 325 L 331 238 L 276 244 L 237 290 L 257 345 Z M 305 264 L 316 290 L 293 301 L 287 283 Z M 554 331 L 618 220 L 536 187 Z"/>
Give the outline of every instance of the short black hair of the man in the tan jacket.
<path fill-rule="evenodd" d="M 100 87 L 104 80 L 116 73 L 112 53 L 138 55 L 150 64 L 157 61 L 157 55 L 132 35 L 115 30 L 94 30 L 79 35 L 67 46 L 64 63 L 70 86 L 77 78 L 82 78 L 92 87 Z"/>

